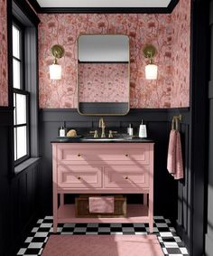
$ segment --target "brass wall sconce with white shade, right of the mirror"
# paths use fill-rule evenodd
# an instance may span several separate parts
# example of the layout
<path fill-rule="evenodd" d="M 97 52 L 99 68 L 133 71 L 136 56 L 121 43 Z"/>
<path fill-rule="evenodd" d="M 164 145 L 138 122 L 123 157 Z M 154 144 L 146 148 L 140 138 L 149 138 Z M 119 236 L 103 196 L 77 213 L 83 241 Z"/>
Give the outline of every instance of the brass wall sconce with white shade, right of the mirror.
<path fill-rule="evenodd" d="M 149 64 L 145 66 L 145 78 L 147 80 L 156 80 L 158 76 L 158 66 L 153 64 L 153 56 L 157 53 L 153 44 L 144 46 L 144 57 L 149 58 Z"/>

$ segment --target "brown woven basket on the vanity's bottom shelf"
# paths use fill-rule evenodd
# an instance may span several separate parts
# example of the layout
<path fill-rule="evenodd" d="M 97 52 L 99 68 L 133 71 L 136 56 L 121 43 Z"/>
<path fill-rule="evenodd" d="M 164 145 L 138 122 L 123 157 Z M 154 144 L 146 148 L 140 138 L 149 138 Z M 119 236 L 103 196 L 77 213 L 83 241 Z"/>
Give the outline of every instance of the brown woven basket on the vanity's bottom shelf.
<path fill-rule="evenodd" d="M 75 198 L 75 210 L 77 218 L 116 218 L 126 216 L 126 197 L 121 194 L 114 194 L 114 213 L 89 213 L 88 209 L 88 197 L 89 196 L 101 196 L 100 194 L 80 194 Z M 112 195 L 110 195 L 112 196 Z"/>

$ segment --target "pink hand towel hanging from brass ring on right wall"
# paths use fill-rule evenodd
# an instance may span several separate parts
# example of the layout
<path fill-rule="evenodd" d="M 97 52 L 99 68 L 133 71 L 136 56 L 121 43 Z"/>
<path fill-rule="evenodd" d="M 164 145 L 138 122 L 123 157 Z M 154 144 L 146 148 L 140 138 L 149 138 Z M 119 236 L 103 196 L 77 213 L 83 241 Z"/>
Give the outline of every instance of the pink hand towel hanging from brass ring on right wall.
<path fill-rule="evenodd" d="M 167 169 L 174 179 L 183 178 L 182 152 L 181 152 L 181 135 L 178 130 L 171 129 Z"/>

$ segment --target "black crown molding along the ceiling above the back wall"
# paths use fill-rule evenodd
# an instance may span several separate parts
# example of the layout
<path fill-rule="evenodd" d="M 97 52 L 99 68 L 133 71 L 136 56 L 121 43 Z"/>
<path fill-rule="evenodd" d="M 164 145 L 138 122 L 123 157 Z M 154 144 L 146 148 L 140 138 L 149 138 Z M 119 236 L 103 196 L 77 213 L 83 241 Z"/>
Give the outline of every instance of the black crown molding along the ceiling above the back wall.
<path fill-rule="evenodd" d="M 171 0 L 167 7 L 41 7 L 36 0 L 28 0 L 38 14 L 171 14 L 179 0 Z"/>

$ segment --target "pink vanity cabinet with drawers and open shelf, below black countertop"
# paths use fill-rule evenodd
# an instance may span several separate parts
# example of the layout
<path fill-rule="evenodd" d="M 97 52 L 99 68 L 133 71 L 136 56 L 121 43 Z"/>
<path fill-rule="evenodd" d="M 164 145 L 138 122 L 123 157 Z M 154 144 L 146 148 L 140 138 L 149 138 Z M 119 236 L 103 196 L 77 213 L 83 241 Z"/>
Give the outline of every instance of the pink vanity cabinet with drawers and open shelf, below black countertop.
<path fill-rule="evenodd" d="M 52 143 L 53 232 L 58 223 L 149 223 L 153 232 L 153 143 Z M 142 194 L 125 218 L 76 218 L 64 194 Z"/>

